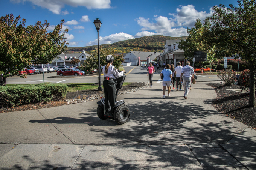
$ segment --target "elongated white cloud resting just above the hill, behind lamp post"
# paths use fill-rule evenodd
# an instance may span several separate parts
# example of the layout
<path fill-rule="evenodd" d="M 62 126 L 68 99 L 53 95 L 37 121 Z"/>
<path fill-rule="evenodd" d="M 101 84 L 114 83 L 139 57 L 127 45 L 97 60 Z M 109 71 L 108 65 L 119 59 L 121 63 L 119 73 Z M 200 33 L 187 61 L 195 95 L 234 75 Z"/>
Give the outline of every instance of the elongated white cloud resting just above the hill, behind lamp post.
<path fill-rule="evenodd" d="M 133 39 L 133 38 L 134 38 L 134 36 L 132 36 L 130 34 L 115 33 L 115 34 L 111 34 L 106 37 L 99 37 L 99 43 L 100 44 L 111 44 L 114 42 L 123 41 L 123 40 L 127 40 L 127 39 Z M 86 45 L 91 46 L 91 45 L 97 45 L 97 44 L 98 44 L 98 40 L 96 39 L 94 41 L 88 42 Z"/>

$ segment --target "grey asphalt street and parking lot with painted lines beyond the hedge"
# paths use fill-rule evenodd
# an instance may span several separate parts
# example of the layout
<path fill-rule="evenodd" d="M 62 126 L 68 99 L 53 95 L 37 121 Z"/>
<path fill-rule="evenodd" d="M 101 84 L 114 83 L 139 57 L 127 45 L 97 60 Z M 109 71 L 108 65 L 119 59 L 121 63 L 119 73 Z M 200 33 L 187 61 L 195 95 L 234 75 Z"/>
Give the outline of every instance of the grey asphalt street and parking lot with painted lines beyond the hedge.
<path fill-rule="evenodd" d="M 125 66 L 125 82 L 145 82 L 149 81 L 147 74 L 146 67 L 140 66 Z M 153 82 L 157 83 L 160 79 L 160 72 L 162 70 L 157 70 L 157 73 L 153 76 Z M 61 78 L 48 78 L 56 75 L 56 72 L 52 73 L 45 73 L 37 74 L 37 75 L 27 75 L 27 78 L 20 78 L 20 76 L 12 76 L 8 77 L 6 80 L 6 84 L 37 84 L 43 83 L 43 76 L 44 82 L 51 82 L 51 83 L 97 83 L 98 82 L 98 74 L 93 74 L 94 76 L 85 76 L 85 77 L 66 77 L 63 76 Z M 197 74 L 198 79 L 197 81 L 218 81 L 218 77 L 216 74 Z M 58 76 L 59 77 L 59 76 Z M 103 81 L 104 76 L 101 75 L 101 80 Z M 221 81 L 221 80 L 219 80 Z M 159 82 L 158 82 L 159 83 Z"/>

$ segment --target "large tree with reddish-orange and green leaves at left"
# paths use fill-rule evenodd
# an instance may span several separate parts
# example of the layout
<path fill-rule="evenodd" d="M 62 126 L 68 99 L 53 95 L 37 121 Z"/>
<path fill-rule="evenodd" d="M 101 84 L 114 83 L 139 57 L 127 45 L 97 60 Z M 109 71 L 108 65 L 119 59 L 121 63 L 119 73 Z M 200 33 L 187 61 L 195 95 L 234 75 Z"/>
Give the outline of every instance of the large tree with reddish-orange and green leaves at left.
<path fill-rule="evenodd" d="M 52 32 L 47 33 L 50 23 L 40 21 L 25 27 L 26 20 L 12 14 L 0 18 L 0 76 L 1 86 L 5 86 L 9 72 L 13 75 L 24 67 L 36 64 L 51 63 L 52 59 L 66 50 L 62 39 L 68 29 L 60 35 L 62 24 L 58 24 Z M 26 74 L 21 77 L 26 78 Z"/>

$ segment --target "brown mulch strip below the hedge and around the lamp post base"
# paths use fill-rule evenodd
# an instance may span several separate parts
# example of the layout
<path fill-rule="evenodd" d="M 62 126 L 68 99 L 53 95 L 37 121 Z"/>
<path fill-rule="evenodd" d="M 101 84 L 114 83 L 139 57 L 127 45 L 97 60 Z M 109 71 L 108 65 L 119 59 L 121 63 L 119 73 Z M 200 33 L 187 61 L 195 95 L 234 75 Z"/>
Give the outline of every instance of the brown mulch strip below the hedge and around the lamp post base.
<path fill-rule="evenodd" d="M 94 84 L 95 86 L 98 86 L 99 83 Z M 132 90 L 139 87 L 144 86 L 145 83 L 139 82 L 139 83 L 131 83 L 127 86 L 123 86 L 122 89 L 119 90 L 119 92 L 125 91 L 125 90 Z M 104 92 L 99 92 L 97 90 L 88 90 L 88 91 L 80 91 L 80 92 L 67 92 L 66 99 L 72 99 L 78 94 L 102 94 Z M 0 113 L 4 112 L 12 112 L 12 111 L 24 111 L 24 110 L 33 110 L 33 109 L 40 109 L 40 108 L 49 108 L 49 107 L 56 107 L 56 106 L 62 106 L 67 105 L 67 102 L 64 101 L 51 101 L 48 103 L 31 103 L 31 104 L 25 104 L 25 105 L 19 105 L 16 107 L 2 107 L 0 108 Z"/>

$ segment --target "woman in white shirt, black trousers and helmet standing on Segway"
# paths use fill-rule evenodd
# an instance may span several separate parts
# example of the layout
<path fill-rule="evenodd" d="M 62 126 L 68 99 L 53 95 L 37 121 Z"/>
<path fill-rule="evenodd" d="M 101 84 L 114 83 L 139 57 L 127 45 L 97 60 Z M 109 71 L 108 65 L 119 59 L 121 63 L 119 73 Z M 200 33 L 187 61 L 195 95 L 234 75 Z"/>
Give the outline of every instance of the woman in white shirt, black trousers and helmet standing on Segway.
<path fill-rule="evenodd" d="M 108 55 L 106 57 L 107 65 L 103 66 L 102 71 L 104 72 L 104 81 L 103 81 L 103 89 L 105 94 L 105 110 L 106 114 L 110 116 L 114 113 L 114 105 L 116 103 L 116 77 L 123 76 L 124 70 L 120 73 L 117 69 L 112 66 L 114 61 L 114 57 L 112 55 Z"/>

